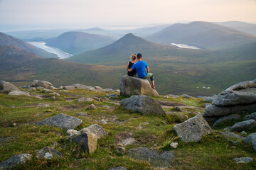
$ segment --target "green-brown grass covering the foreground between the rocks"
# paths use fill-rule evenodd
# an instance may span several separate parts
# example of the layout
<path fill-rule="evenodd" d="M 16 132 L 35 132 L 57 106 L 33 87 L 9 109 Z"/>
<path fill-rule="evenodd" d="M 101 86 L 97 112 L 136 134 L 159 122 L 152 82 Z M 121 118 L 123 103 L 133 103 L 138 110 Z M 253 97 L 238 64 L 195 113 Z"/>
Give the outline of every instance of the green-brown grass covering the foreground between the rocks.
<path fill-rule="evenodd" d="M 173 150 L 176 158 L 170 162 L 168 169 L 256 169 L 256 156 L 251 146 L 240 144 L 233 145 L 225 140 L 219 130 L 203 137 L 201 142 L 183 143 L 176 137 L 173 130 L 176 123 L 181 120 L 170 115 L 140 115 L 134 111 L 117 106 L 111 101 L 117 102 L 125 98 L 108 101 L 104 99 L 107 93 L 97 93 L 87 90 L 58 91 L 60 96 L 55 100 L 50 94 L 41 91 L 33 91 L 31 94 L 43 95 L 43 99 L 27 96 L 8 96 L 0 94 L 0 162 L 16 155 L 28 153 L 33 159 L 27 164 L 16 166 L 14 169 L 110 169 L 112 167 L 124 166 L 127 169 L 159 169 L 149 162 L 138 161 L 132 158 L 117 155 L 117 136 L 121 133 L 132 132 L 136 140 L 134 147 L 150 147 L 159 152 Z M 97 96 L 103 98 L 103 102 L 92 101 L 78 103 L 80 97 Z M 203 113 L 202 98 L 154 98 L 161 101 L 183 103 L 181 115 L 191 118 L 197 112 Z M 97 110 L 87 111 L 91 103 L 95 104 Z M 109 106 L 104 108 L 104 106 Z M 170 112 L 176 112 L 175 108 L 164 108 Z M 75 115 L 75 113 L 88 113 L 87 117 Z M 98 140 L 97 150 L 93 154 L 82 152 L 78 145 L 67 140 L 65 130 L 52 126 L 33 125 L 40 120 L 50 118 L 59 113 L 75 116 L 82 120 L 81 125 L 76 128 L 80 130 L 92 124 L 99 124 L 108 135 Z M 103 121 L 104 120 L 104 121 Z M 107 123 L 106 123 L 107 122 Z M 10 127 L 16 123 L 15 127 Z M 176 149 L 171 149 L 171 142 L 178 142 Z M 63 159 L 39 160 L 36 152 L 43 147 L 53 147 L 64 154 Z M 249 164 L 237 164 L 233 162 L 235 157 L 252 157 L 253 162 Z"/>

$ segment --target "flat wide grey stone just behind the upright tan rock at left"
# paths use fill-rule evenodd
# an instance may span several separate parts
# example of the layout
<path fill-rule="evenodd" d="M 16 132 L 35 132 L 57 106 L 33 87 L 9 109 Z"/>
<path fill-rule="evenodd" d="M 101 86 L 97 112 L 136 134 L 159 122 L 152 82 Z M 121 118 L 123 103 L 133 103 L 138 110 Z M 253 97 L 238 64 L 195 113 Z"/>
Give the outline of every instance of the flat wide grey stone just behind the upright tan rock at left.
<path fill-rule="evenodd" d="M 66 130 L 69 130 L 69 129 L 77 128 L 81 123 L 82 123 L 82 120 L 78 118 L 60 113 L 58 115 L 55 115 L 51 118 L 47 118 L 46 120 L 42 120 L 35 124 L 36 125 L 54 125 L 58 128 L 64 128 Z"/>

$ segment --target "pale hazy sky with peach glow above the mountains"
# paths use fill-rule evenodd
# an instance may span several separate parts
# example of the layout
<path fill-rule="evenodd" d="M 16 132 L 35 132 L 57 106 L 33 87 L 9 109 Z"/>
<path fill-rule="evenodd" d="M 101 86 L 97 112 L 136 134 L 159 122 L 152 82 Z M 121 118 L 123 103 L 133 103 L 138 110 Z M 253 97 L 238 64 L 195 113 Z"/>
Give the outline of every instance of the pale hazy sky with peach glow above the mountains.
<path fill-rule="evenodd" d="M 0 31 L 189 21 L 256 23 L 256 0 L 0 0 Z"/>

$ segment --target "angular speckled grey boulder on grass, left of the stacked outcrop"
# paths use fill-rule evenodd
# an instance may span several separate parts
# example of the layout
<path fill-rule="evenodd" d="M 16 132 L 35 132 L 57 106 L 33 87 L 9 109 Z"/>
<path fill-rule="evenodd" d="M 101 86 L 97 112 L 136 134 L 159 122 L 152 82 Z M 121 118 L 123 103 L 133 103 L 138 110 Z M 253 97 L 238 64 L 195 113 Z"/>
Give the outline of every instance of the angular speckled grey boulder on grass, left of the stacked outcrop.
<path fill-rule="evenodd" d="M 213 131 L 201 113 L 198 113 L 183 123 L 175 125 L 174 130 L 182 142 L 198 142 L 203 136 Z"/>

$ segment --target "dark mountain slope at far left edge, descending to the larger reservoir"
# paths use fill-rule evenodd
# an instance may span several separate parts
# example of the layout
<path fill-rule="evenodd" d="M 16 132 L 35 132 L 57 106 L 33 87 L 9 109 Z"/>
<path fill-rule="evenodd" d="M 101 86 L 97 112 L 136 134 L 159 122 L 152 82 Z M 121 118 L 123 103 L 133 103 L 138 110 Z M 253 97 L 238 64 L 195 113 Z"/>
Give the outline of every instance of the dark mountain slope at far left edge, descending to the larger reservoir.
<path fill-rule="evenodd" d="M 35 47 L 28 42 L 24 42 L 23 40 L 19 40 L 10 35 L 6 35 L 4 33 L 0 33 L 0 45 L 15 45 L 16 47 L 20 47 L 23 50 L 28 52 L 33 52 L 40 57 L 45 58 L 57 58 L 57 55 L 46 52 L 38 47 Z"/>

